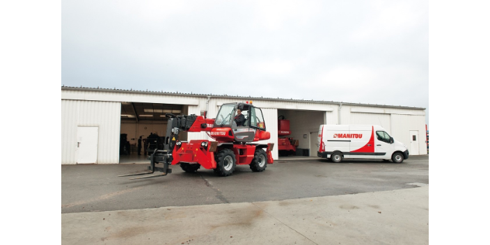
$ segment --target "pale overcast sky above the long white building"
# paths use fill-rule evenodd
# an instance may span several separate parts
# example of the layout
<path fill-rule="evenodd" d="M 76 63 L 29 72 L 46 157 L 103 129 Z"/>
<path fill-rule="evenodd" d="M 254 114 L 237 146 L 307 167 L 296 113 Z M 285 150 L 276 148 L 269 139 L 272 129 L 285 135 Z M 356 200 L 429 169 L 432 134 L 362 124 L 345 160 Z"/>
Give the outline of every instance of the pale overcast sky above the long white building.
<path fill-rule="evenodd" d="M 61 86 L 413 106 L 429 1 L 61 1 Z"/>

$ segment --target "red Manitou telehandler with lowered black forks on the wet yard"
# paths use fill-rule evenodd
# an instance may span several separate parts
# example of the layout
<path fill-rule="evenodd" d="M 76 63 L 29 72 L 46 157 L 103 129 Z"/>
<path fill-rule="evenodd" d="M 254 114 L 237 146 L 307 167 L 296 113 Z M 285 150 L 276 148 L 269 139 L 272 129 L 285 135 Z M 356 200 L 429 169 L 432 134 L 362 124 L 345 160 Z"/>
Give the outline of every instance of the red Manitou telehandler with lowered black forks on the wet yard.
<path fill-rule="evenodd" d="M 233 119 L 237 109 L 242 110 L 246 120 L 237 126 Z M 207 111 L 204 113 L 204 115 Z M 262 110 L 251 103 L 227 103 L 219 109 L 216 118 L 205 116 L 175 116 L 166 113 L 168 118 L 164 149 L 155 149 L 148 157 L 150 166 L 143 173 L 132 173 L 123 176 L 145 175 L 130 180 L 148 177 L 165 176 L 172 173 L 170 165 L 180 164 L 180 168 L 188 173 L 196 172 L 201 166 L 212 169 L 219 176 L 232 175 L 235 166 L 248 164 L 252 171 L 261 172 L 267 164 L 273 164 L 271 151 L 274 143 L 258 143 L 271 138 L 266 131 Z M 206 132 L 214 141 L 191 140 L 180 141 L 182 131 Z M 162 164 L 163 167 L 156 165 Z M 157 175 L 155 171 L 162 172 Z"/>

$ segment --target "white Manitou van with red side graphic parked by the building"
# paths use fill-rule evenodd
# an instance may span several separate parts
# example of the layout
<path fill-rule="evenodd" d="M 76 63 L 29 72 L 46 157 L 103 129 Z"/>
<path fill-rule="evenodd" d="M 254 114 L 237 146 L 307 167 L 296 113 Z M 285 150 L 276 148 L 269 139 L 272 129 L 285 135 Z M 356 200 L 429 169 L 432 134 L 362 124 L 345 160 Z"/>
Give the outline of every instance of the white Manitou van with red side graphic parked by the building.
<path fill-rule="evenodd" d="M 383 159 L 401 164 L 409 150 L 379 125 L 320 125 L 318 157 L 340 162 L 343 158 Z"/>

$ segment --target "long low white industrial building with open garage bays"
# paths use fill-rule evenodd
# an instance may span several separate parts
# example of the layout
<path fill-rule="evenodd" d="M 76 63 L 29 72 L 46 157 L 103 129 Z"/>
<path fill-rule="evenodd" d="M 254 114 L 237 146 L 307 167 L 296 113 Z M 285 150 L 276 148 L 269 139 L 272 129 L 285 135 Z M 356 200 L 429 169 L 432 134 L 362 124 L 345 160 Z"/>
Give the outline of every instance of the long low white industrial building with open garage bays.
<path fill-rule="evenodd" d="M 317 135 L 322 124 L 381 125 L 406 145 L 410 155 L 427 155 L 425 108 L 328 100 L 61 86 L 61 164 L 119 164 L 121 149 L 131 154 L 139 136 L 164 136 L 166 113 L 200 116 L 207 111 L 207 117 L 214 118 L 219 106 L 230 102 L 253 102 L 262 109 L 271 133 L 271 139 L 264 143 L 277 145 L 278 118 L 290 120 L 288 137 L 295 139 L 297 155 L 317 156 Z M 205 132 L 181 134 L 182 140 L 212 140 Z M 272 156 L 279 158 L 278 148 Z"/>

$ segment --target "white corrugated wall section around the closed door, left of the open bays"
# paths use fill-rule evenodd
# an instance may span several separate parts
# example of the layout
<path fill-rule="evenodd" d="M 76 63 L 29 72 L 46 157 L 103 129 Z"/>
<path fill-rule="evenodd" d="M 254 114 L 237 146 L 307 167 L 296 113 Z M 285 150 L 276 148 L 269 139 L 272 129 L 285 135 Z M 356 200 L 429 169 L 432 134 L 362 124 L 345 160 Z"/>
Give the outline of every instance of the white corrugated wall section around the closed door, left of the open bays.
<path fill-rule="evenodd" d="M 99 127 L 97 164 L 119 162 L 119 102 L 61 100 L 61 164 L 77 164 L 77 127 Z"/>

